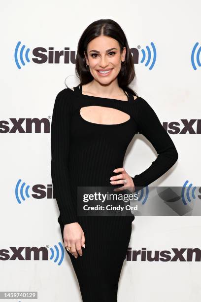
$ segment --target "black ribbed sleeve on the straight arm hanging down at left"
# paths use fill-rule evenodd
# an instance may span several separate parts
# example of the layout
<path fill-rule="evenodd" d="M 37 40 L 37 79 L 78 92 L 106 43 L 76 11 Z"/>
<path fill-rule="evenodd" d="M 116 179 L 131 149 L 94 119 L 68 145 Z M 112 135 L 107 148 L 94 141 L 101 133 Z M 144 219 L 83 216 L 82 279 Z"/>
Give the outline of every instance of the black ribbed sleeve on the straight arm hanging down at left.
<path fill-rule="evenodd" d="M 77 222 L 68 173 L 70 113 L 71 104 L 64 89 L 56 96 L 51 124 L 52 184 L 64 225 Z"/>

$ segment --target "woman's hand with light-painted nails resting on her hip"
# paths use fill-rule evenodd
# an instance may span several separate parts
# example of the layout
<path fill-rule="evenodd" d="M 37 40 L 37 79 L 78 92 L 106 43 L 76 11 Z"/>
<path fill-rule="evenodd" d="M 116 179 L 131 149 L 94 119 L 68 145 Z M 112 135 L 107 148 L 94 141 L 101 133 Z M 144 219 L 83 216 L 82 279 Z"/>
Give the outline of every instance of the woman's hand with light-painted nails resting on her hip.
<path fill-rule="evenodd" d="M 118 175 L 110 177 L 110 184 L 111 185 L 121 185 L 121 184 L 124 184 L 123 187 L 116 188 L 116 189 L 114 189 L 114 191 L 122 191 L 122 190 L 128 189 L 129 191 L 134 192 L 134 182 L 133 182 L 133 179 L 126 172 L 126 170 L 124 168 L 117 168 L 113 172 L 115 172 L 115 173 L 121 172 L 121 174 L 118 174 Z M 125 180 L 127 181 L 126 183 L 125 183 Z"/>

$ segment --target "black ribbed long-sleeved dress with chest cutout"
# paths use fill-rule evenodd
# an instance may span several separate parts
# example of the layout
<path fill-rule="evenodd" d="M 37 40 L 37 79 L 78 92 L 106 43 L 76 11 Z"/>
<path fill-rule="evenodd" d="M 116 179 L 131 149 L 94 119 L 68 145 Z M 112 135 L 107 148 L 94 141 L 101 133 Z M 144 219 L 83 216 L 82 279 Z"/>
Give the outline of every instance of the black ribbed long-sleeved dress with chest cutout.
<path fill-rule="evenodd" d="M 132 177 L 135 187 L 145 187 L 162 176 L 177 161 L 176 148 L 151 106 L 141 97 L 128 101 L 82 94 L 65 88 L 56 96 L 51 124 L 51 175 L 60 210 L 58 222 L 78 222 L 85 234 L 86 249 L 75 259 L 83 302 L 116 302 L 118 282 L 129 245 L 134 216 L 78 216 L 77 187 L 111 187 L 113 170 L 123 167 L 125 152 L 134 134 L 142 133 L 158 156 L 142 173 Z M 97 124 L 83 119 L 80 109 L 103 106 L 130 115 L 119 124 Z M 134 159 L 135 162 L 136 159 Z M 113 188 L 120 185 L 113 185 Z M 64 237 L 63 237 L 64 241 Z M 67 250 L 67 249 L 66 249 Z M 69 287 L 70 290 L 70 287 Z"/>

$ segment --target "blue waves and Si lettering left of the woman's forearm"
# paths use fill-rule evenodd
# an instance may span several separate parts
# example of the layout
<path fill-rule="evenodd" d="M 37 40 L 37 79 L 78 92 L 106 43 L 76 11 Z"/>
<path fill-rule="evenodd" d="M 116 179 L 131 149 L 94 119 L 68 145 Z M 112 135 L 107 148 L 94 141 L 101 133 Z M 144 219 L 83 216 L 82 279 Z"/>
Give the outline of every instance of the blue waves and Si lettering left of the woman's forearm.
<path fill-rule="evenodd" d="M 37 184 L 32 187 L 32 197 L 36 199 L 43 199 L 45 197 L 47 198 L 54 198 L 53 196 L 53 186 L 47 185 L 47 188 L 44 185 Z M 26 185 L 25 182 L 22 183 L 22 180 L 19 179 L 16 186 L 15 186 L 15 197 L 19 204 L 22 203 L 26 198 L 30 198 L 29 193 L 30 186 Z"/>

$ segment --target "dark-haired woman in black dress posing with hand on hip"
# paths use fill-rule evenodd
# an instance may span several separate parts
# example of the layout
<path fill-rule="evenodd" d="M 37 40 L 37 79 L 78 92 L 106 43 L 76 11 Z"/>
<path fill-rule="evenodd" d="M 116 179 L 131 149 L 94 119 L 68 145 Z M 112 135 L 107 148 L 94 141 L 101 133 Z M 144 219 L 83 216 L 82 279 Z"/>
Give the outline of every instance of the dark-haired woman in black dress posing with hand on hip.
<path fill-rule="evenodd" d="M 58 222 L 84 302 L 116 302 L 134 216 L 79 216 L 78 187 L 145 187 L 177 161 L 178 153 L 154 110 L 128 87 L 134 61 L 121 27 L 100 19 L 83 32 L 77 49 L 80 84 L 56 97 L 51 125 L 51 175 Z M 134 134 L 158 156 L 139 175 L 123 168 Z M 85 247 L 86 242 L 86 247 Z"/>

